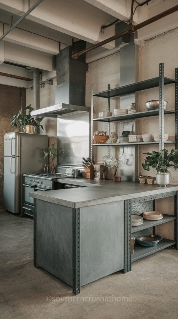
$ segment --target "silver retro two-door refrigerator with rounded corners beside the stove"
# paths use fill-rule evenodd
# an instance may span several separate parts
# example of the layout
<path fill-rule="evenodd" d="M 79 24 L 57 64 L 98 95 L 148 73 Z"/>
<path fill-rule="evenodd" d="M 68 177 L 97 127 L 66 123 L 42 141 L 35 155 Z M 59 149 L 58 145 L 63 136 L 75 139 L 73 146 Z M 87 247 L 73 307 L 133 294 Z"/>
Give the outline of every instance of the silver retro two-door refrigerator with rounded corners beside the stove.
<path fill-rule="evenodd" d="M 48 148 L 48 136 L 10 132 L 4 135 L 3 204 L 7 211 L 23 215 L 23 174 L 43 172 L 42 148 Z"/>

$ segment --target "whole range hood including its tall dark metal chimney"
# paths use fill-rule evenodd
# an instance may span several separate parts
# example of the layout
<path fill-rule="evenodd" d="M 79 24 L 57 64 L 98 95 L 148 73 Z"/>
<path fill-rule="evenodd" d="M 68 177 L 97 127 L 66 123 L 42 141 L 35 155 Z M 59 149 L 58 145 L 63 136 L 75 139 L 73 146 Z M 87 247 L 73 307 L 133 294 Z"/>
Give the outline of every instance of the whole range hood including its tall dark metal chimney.
<path fill-rule="evenodd" d="M 75 43 L 75 51 L 84 50 L 86 43 Z M 56 99 L 55 105 L 34 110 L 32 115 L 46 117 L 61 117 L 69 113 L 89 112 L 85 107 L 85 83 L 88 64 L 85 63 L 85 55 L 78 60 L 72 59 L 72 47 L 68 46 L 60 50 L 56 56 Z"/>

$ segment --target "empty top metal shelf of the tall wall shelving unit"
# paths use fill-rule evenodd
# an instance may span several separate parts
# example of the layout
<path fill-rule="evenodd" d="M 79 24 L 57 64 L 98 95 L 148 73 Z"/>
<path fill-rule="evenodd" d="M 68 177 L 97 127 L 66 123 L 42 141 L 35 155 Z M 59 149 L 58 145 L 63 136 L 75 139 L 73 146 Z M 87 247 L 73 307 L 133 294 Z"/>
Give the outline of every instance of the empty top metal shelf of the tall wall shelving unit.
<path fill-rule="evenodd" d="M 142 91 L 142 90 L 150 89 L 152 87 L 159 86 L 159 81 L 160 81 L 159 77 L 152 78 L 145 81 L 140 81 L 140 82 L 132 83 L 129 85 L 120 86 L 115 89 L 94 93 L 93 96 L 99 96 L 99 97 L 108 99 L 108 98 L 112 98 L 122 94 L 134 93 L 137 91 Z M 176 81 L 174 79 L 164 77 L 164 85 L 171 84 L 171 83 L 176 83 Z"/>

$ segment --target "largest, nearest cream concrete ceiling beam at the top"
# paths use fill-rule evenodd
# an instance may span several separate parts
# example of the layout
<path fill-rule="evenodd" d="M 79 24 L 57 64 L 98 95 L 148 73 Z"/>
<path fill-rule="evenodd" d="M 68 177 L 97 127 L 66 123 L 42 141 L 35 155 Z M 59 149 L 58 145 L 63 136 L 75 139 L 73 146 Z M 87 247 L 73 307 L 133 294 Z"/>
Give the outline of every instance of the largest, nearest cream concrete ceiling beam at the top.
<path fill-rule="evenodd" d="M 28 1 L 0 0 L 0 8 L 22 15 L 28 10 Z M 113 22 L 110 14 L 83 0 L 43 1 L 26 19 L 90 43 L 100 41 L 101 26 Z M 102 37 L 107 38 L 109 32 Z M 113 43 L 106 47 L 112 49 Z"/>

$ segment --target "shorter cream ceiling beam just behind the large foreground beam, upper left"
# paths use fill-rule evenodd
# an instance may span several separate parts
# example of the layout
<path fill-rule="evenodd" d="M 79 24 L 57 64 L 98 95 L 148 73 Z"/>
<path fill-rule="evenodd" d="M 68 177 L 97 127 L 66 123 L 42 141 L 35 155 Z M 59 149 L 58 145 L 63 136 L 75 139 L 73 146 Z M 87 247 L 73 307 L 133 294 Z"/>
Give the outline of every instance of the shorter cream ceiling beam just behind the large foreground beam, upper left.
<path fill-rule="evenodd" d="M 4 25 L 4 32 L 8 30 L 8 26 Z M 0 23 L 0 36 L 3 35 L 3 24 Z M 38 51 L 56 55 L 59 53 L 59 43 L 49 40 L 39 35 L 14 28 L 6 35 L 4 41 L 19 44 Z"/>

